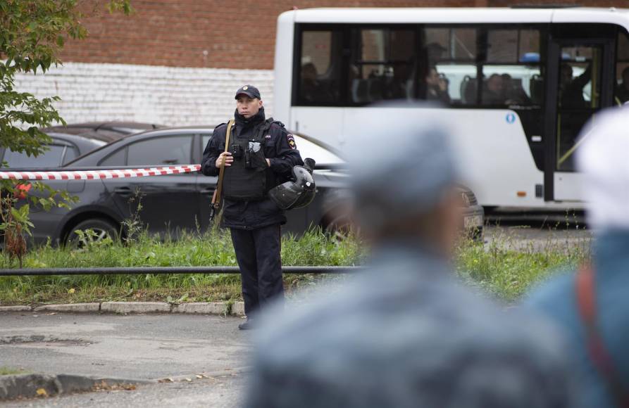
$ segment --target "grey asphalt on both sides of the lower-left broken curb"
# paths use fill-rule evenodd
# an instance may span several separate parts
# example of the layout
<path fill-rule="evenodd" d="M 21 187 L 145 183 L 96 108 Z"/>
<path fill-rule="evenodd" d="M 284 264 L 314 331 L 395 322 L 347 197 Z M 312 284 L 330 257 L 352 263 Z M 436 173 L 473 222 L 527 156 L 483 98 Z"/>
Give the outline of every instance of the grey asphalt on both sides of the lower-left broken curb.
<path fill-rule="evenodd" d="M 241 321 L 185 314 L 0 313 L 0 366 L 42 374 L 175 379 L 136 390 L 101 390 L 2 406 L 237 407 L 251 349 L 251 332 L 237 328 Z"/>

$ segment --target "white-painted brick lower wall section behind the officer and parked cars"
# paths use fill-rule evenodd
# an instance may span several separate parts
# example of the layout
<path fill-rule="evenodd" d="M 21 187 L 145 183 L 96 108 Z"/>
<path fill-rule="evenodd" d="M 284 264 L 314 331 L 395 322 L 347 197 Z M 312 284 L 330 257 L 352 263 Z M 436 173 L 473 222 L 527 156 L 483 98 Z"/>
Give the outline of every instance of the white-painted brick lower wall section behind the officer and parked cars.
<path fill-rule="evenodd" d="M 236 90 L 260 89 L 273 115 L 273 70 L 65 63 L 45 75 L 18 75 L 15 89 L 55 104 L 68 123 L 123 120 L 161 125 L 218 125 L 235 109 Z M 279 119 L 279 118 L 278 118 Z"/>

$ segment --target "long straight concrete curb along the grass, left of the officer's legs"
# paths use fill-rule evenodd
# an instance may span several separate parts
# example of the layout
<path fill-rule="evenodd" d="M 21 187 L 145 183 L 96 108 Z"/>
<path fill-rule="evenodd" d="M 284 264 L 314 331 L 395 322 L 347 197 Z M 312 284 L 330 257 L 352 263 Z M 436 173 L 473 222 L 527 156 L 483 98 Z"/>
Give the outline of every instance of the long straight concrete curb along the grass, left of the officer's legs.
<path fill-rule="evenodd" d="M 3 312 L 52 313 L 177 313 L 244 316 L 244 302 L 189 302 L 171 305 L 166 302 L 101 302 L 67 303 L 63 305 L 0 306 Z"/>

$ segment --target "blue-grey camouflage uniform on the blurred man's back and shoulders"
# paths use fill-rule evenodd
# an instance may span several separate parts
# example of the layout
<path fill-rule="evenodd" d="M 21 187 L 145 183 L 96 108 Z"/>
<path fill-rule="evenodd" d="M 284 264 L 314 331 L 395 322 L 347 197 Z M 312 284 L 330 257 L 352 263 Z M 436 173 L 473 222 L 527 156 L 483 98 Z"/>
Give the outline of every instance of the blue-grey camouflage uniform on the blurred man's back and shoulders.
<path fill-rule="evenodd" d="M 412 243 L 367 276 L 270 326 L 246 407 L 573 407 L 547 327 L 458 286 Z"/>

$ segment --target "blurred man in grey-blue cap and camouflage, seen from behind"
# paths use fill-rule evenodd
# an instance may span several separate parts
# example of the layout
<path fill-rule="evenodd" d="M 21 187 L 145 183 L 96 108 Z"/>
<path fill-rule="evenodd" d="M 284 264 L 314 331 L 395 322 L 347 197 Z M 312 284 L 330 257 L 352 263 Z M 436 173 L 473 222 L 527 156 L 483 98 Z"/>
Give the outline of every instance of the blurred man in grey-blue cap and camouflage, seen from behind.
<path fill-rule="evenodd" d="M 349 142 L 368 270 L 268 322 L 245 406 L 572 406 L 554 332 L 456 283 L 449 135 L 418 106 L 400 107 L 386 120 L 366 113 Z"/>

